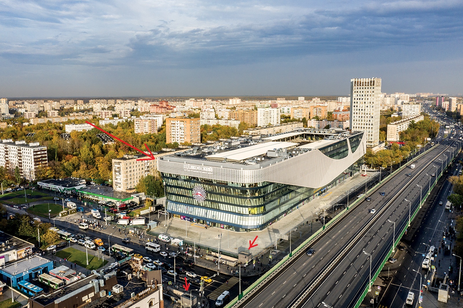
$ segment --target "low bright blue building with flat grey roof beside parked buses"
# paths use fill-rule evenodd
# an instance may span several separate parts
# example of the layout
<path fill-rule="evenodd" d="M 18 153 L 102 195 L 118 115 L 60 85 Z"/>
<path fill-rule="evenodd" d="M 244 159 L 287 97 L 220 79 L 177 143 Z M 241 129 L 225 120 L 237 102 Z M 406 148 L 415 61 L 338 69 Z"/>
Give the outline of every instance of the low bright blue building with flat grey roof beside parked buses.
<path fill-rule="evenodd" d="M 7 285 L 18 288 L 20 281 L 38 279 L 38 276 L 48 273 L 52 269 L 53 261 L 39 256 L 31 256 L 0 269 L 0 277 Z"/>

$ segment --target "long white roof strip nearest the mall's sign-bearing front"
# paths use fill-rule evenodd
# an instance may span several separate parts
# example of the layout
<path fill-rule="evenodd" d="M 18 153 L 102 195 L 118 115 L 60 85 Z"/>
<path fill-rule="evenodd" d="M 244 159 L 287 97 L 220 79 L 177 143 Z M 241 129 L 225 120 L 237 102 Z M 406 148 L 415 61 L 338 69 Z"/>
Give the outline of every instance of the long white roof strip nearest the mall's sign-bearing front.
<path fill-rule="evenodd" d="M 279 141 L 271 141 L 271 142 L 263 142 L 255 145 L 251 145 L 245 148 L 238 148 L 236 150 L 226 151 L 222 153 L 212 154 L 206 156 L 206 159 L 209 160 L 224 160 L 227 161 L 242 161 L 248 158 L 259 156 L 266 154 L 267 151 L 273 150 L 275 148 L 292 148 L 296 147 L 298 143 L 294 142 L 279 142 Z"/>

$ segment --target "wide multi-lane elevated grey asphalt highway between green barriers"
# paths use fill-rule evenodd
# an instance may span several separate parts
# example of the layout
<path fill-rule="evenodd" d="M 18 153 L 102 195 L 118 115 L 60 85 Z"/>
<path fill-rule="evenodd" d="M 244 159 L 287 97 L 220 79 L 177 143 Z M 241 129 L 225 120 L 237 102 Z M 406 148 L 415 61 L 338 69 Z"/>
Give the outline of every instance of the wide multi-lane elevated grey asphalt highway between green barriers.
<path fill-rule="evenodd" d="M 312 246 L 316 253 L 312 257 L 305 253 L 296 256 L 235 307 L 319 307 L 322 302 L 333 307 L 355 305 L 369 280 L 370 257 L 363 251 L 372 254 L 374 272 L 392 246 L 394 223 L 388 220 L 395 222 L 397 238 L 399 230 L 408 224 L 409 211 L 413 213 L 418 206 L 419 186 L 426 187 L 430 178 L 436 179 L 425 174 L 440 172 L 449 154 L 456 152 L 453 143 L 444 142 L 445 146 L 432 149 L 415 163 L 415 169 L 403 168 L 369 196 L 370 202 L 358 204 L 316 240 Z M 370 209 L 376 213 L 370 214 Z"/>

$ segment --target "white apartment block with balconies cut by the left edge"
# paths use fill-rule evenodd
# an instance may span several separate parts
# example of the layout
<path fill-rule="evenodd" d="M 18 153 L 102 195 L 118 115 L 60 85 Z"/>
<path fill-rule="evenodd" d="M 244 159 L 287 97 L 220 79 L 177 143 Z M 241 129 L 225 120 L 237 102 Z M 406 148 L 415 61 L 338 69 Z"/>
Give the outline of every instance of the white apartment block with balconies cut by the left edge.
<path fill-rule="evenodd" d="M 38 168 L 48 166 L 47 147 L 38 142 L 4 139 L 0 142 L 0 166 L 10 170 L 18 166 L 21 177 L 34 180 Z"/>

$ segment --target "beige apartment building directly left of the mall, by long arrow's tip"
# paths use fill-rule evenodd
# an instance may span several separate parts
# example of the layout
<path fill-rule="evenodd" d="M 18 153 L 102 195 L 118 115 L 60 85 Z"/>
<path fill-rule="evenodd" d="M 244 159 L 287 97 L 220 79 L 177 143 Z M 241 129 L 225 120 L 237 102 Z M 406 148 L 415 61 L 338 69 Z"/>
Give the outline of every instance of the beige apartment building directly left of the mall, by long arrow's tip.
<path fill-rule="evenodd" d="M 139 160 L 143 158 L 146 156 L 124 155 L 124 157 L 113 159 L 113 189 L 115 191 L 133 192 L 138 181 L 151 174 L 156 160 Z"/>

